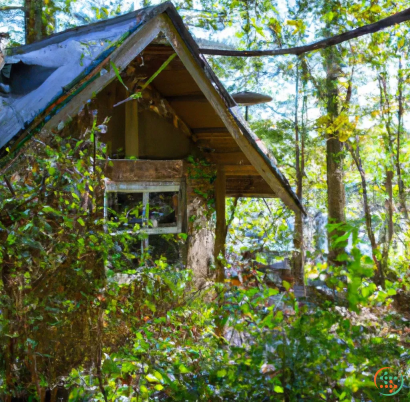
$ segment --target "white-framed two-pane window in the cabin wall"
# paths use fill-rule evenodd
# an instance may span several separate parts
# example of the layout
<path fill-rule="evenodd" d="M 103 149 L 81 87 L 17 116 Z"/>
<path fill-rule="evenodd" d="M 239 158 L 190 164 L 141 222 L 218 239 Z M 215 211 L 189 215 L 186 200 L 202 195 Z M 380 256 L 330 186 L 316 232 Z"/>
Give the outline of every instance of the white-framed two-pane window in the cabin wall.
<path fill-rule="evenodd" d="M 127 219 L 119 230 L 129 230 L 140 226 L 139 232 L 149 235 L 180 233 L 183 219 L 183 185 L 180 182 L 106 183 L 104 216 L 118 220 L 119 214 Z"/>

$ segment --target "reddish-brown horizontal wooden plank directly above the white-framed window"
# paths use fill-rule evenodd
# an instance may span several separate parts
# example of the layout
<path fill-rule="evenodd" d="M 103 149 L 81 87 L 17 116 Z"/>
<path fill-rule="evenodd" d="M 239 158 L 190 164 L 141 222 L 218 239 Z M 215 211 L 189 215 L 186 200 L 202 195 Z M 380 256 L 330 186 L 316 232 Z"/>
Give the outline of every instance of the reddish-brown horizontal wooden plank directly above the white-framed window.
<path fill-rule="evenodd" d="M 183 161 L 114 159 L 105 175 L 113 181 L 173 181 L 183 176 Z"/>

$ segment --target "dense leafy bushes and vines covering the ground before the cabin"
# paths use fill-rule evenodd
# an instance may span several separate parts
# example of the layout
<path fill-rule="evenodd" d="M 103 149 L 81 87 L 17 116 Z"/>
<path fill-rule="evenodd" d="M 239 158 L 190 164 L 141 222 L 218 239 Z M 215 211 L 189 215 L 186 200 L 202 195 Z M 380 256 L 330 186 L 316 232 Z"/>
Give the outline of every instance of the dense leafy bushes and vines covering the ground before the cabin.
<path fill-rule="evenodd" d="M 46 390 L 57 400 L 64 387 L 70 401 L 376 401 L 372 373 L 407 367 L 406 321 L 389 307 L 397 285 L 374 286 L 356 245 L 345 271 L 327 272 L 335 292 L 348 284 L 343 303 L 299 302 L 289 284 L 278 293 L 256 272 L 253 284 L 217 284 L 206 296 L 188 271 L 136 258 L 135 235 L 110 234 L 121 217 L 102 217 L 95 130 L 35 139 L 8 165 L 3 400 L 44 401 Z M 101 163 L 103 152 L 97 147 Z M 216 314 L 224 337 L 215 334 Z"/>

